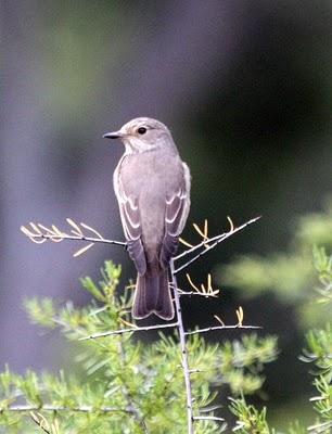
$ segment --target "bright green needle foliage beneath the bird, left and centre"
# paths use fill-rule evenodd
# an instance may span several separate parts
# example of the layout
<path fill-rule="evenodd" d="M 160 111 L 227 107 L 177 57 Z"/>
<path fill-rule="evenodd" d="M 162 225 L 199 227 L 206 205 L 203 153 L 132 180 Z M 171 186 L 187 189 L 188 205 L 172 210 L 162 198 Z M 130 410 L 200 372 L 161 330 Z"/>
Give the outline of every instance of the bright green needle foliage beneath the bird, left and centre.
<path fill-rule="evenodd" d="M 141 341 L 133 332 L 86 339 L 135 327 L 131 290 L 118 292 L 120 267 L 106 261 L 101 273 L 99 283 L 90 278 L 81 281 L 92 297 L 87 307 L 77 308 L 71 302 L 58 306 L 50 298 L 26 302 L 33 322 L 59 328 L 75 347 L 79 345 L 76 358 L 84 373 L 39 375 L 28 371 L 17 375 L 7 368 L 0 374 L 3 432 L 187 432 L 186 388 L 176 333 L 158 333 L 153 343 Z M 230 342 L 222 335 L 221 343 L 209 344 L 202 335 L 192 334 L 187 347 L 193 371 L 195 433 L 220 433 L 226 426 L 216 418 L 218 392 L 227 387 L 227 393 L 235 397 L 259 391 L 263 367 L 277 356 L 276 339 L 246 334 Z"/>

